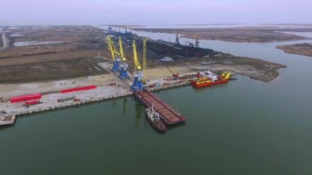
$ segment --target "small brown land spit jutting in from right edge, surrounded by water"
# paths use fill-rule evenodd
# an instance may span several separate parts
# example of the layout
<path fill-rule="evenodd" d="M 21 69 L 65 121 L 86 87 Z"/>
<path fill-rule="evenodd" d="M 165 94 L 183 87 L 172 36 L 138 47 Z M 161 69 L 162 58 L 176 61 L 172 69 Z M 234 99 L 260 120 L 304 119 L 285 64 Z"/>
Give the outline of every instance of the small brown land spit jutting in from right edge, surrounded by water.
<path fill-rule="evenodd" d="M 286 53 L 312 56 L 312 44 L 302 43 L 295 45 L 277 46 L 277 49 L 282 49 Z"/>

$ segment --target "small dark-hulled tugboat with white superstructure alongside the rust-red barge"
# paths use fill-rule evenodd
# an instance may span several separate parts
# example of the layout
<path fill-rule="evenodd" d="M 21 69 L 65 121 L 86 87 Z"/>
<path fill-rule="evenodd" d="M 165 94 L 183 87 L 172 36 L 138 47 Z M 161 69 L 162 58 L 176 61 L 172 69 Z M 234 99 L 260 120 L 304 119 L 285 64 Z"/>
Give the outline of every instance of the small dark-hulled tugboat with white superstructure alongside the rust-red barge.
<path fill-rule="evenodd" d="M 145 112 L 148 122 L 152 124 L 156 130 L 158 130 L 159 132 L 166 132 L 167 127 L 165 123 L 160 119 L 159 114 L 154 111 L 154 104 L 152 105 L 152 107 L 147 108 Z"/>

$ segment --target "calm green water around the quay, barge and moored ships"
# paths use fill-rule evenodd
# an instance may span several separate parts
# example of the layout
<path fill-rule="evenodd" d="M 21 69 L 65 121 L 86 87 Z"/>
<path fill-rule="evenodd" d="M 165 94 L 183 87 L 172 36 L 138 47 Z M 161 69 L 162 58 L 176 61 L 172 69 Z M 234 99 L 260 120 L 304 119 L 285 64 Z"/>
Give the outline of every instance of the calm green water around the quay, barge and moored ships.
<path fill-rule="evenodd" d="M 237 52 L 288 68 L 156 92 L 187 118 L 166 134 L 133 97 L 18 118 L 0 128 L 1 174 L 311 174 L 312 58 L 253 46 Z"/>

